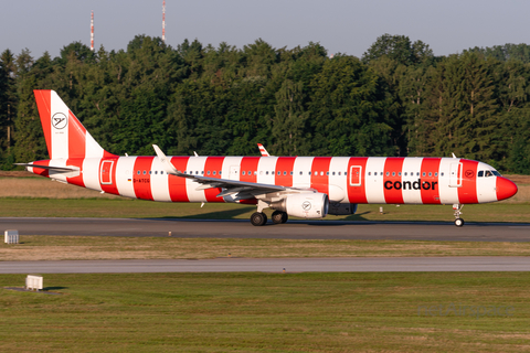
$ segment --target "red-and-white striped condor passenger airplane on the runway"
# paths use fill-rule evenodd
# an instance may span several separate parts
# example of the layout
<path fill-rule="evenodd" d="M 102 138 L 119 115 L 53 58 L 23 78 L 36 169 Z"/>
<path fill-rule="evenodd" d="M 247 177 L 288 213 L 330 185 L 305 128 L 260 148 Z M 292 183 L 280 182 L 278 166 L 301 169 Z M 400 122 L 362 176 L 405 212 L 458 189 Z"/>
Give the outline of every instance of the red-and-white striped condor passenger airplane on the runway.
<path fill-rule="evenodd" d="M 414 157 L 119 157 L 105 151 L 54 90 L 35 89 L 49 160 L 24 165 L 50 179 L 104 193 L 162 202 L 253 204 L 251 223 L 354 214 L 358 204 L 465 204 L 513 196 L 517 185 L 474 160 Z M 263 146 L 262 146 L 263 147 Z M 265 156 L 265 157 L 264 157 Z"/>

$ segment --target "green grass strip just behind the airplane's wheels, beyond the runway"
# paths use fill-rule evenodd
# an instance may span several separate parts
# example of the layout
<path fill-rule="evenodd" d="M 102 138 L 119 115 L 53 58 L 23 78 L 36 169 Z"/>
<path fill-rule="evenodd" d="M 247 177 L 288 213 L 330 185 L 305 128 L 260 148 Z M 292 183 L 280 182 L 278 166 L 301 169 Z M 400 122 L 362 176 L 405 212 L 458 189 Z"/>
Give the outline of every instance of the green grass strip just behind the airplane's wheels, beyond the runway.
<path fill-rule="evenodd" d="M 379 213 L 383 206 L 384 214 Z M 237 204 L 162 203 L 129 199 L 0 199 L 3 217 L 167 217 L 248 220 L 255 206 Z M 266 211 L 271 213 L 271 211 Z M 492 203 L 466 205 L 467 222 L 530 222 L 530 204 Z M 359 205 L 348 221 L 453 221 L 452 205 Z"/>

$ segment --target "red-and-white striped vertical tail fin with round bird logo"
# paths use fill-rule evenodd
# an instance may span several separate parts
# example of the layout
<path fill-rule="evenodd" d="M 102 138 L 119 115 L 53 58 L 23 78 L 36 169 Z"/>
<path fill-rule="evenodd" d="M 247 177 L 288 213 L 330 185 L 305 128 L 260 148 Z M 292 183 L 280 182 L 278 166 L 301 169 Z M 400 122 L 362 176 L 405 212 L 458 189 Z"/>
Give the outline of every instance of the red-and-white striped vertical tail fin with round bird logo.
<path fill-rule="evenodd" d="M 50 159 L 113 156 L 94 140 L 55 90 L 35 89 L 33 94 L 41 116 Z"/>

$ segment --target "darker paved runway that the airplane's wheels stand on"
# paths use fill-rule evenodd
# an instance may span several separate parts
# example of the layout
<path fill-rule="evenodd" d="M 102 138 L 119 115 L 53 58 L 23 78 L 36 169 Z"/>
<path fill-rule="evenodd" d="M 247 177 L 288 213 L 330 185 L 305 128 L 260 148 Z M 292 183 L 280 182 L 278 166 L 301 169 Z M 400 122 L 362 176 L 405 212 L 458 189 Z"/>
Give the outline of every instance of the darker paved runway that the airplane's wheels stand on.
<path fill-rule="evenodd" d="M 0 218 L 0 231 L 21 235 L 168 236 L 282 239 L 530 242 L 530 224 L 452 222 L 289 221 L 262 227 L 242 221 L 131 218 Z"/>

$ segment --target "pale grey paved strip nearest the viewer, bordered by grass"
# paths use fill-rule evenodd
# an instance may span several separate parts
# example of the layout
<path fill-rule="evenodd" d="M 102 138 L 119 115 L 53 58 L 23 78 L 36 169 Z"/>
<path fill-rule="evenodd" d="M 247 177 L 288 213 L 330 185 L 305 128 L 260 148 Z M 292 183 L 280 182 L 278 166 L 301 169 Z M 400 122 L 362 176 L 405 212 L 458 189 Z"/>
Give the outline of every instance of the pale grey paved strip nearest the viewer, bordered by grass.
<path fill-rule="evenodd" d="M 0 261 L 0 274 L 530 271 L 530 257 Z"/>

